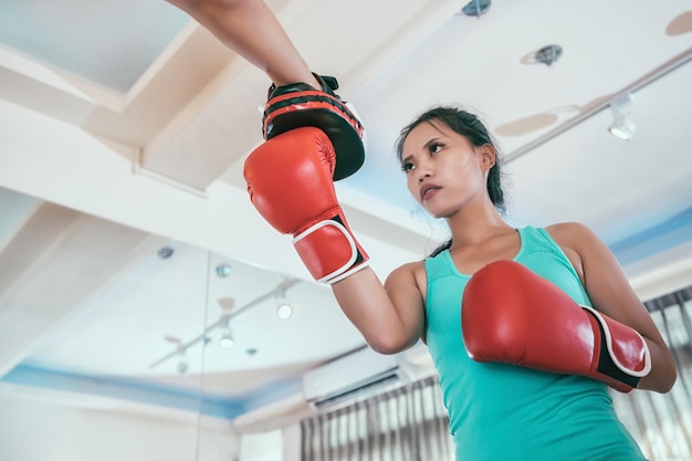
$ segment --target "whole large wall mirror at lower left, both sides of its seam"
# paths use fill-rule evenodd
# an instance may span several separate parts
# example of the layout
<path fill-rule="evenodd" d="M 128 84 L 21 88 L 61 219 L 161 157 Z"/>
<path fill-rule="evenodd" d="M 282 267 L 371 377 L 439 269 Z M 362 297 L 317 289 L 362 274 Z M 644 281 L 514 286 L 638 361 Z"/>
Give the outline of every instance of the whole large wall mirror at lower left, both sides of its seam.
<path fill-rule="evenodd" d="M 233 459 L 239 416 L 364 345 L 326 286 L 8 189 L 0 205 L 2 459 Z"/>

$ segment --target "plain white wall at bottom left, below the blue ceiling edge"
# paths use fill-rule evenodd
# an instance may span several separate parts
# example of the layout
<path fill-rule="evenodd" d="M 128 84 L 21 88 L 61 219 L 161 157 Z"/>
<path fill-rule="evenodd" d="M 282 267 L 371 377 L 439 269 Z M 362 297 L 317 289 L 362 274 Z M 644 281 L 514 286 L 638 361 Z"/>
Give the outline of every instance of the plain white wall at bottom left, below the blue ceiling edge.
<path fill-rule="evenodd" d="M 0 386 L 0 460 L 235 461 L 239 447 L 229 421 Z"/>

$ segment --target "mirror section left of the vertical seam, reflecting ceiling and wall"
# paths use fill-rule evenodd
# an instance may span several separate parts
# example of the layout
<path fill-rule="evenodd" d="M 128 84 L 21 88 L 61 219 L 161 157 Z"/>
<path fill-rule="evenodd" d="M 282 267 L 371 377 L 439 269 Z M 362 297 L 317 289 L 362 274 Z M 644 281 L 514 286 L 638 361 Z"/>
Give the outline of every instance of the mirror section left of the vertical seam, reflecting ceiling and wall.
<path fill-rule="evenodd" d="M 195 460 L 202 350 L 179 345 L 208 251 L 8 189 L 0 208 L 0 458 Z"/>

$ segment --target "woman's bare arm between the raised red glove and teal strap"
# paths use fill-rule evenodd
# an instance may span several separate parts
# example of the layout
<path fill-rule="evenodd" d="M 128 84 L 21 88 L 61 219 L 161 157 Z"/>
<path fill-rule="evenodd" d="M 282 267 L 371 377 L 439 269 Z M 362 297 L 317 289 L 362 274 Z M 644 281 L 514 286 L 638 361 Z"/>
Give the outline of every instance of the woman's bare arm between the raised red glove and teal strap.
<path fill-rule="evenodd" d="M 422 262 L 405 264 L 385 284 L 370 268 L 332 285 L 348 319 L 380 354 L 396 354 L 413 346 L 423 334 L 426 315 L 420 280 Z"/>

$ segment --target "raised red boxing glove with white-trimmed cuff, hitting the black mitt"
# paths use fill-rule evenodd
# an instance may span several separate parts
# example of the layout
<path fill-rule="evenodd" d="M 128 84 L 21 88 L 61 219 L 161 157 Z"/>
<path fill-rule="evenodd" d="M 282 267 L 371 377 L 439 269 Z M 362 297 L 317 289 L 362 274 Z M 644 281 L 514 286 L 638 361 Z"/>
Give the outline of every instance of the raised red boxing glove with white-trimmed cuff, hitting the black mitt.
<path fill-rule="evenodd" d="M 244 164 L 250 200 L 279 232 L 293 235 L 318 282 L 334 283 L 368 265 L 336 199 L 336 155 L 321 129 L 292 129 L 266 140 Z"/>

